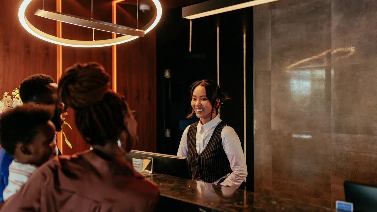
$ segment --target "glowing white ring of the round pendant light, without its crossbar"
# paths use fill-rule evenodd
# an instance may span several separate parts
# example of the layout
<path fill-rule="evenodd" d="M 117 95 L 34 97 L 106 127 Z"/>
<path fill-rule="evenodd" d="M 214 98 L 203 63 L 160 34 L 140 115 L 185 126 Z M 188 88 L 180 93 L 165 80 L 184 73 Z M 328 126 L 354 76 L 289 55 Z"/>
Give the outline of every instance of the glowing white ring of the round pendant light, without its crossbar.
<path fill-rule="evenodd" d="M 69 40 L 65 38 L 59 38 L 53 35 L 49 35 L 45 32 L 40 31 L 39 29 L 35 28 L 26 18 L 25 11 L 27 6 L 32 0 L 21 0 L 20 8 L 18 9 L 18 20 L 20 21 L 23 28 L 26 29 L 30 34 L 34 35 L 37 38 L 40 38 L 42 40 L 55 43 L 57 45 L 63 45 L 63 46 L 72 46 L 72 47 L 102 47 L 102 46 L 112 46 L 117 45 L 121 43 L 126 43 L 127 41 L 135 40 L 136 36 L 132 35 L 124 35 L 118 38 L 112 38 L 107 40 L 96 40 L 96 41 L 81 41 L 81 40 Z M 152 0 L 153 3 L 156 6 L 156 14 L 155 14 L 155 20 L 154 22 L 148 26 L 151 22 L 148 23 L 148 25 L 145 27 L 147 28 L 145 30 L 145 34 L 147 34 L 149 31 L 151 31 L 159 22 L 162 15 L 162 8 L 161 4 L 158 0 Z M 144 29 L 142 29 L 144 30 Z"/>

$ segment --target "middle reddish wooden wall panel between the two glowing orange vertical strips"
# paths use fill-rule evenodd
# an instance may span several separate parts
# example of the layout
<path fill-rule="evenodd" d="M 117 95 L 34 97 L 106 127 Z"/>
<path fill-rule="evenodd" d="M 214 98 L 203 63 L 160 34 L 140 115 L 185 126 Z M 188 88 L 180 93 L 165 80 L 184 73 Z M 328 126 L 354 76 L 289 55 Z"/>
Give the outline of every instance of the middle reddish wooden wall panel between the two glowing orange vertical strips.
<path fill-rule="evenodd" d="M 91 17 L 90 1 L 88 0 L 64 0 L 62 1 L 62 12 L 83 17 Z M 111 2 L 94 1 L 94 18 L 106 22 L 111 22 Z M 76 25 L 62 23 L 62 37 L 75 40 L 92 40 L 92 29 L 83 28 Z M 111 33 L 95 30 L 95 39 L 110 39 Z M 88 63 L 95 61 L 101 63 L 105 70 L 112 75 L 112 48 L 72 48 L 68 46 L 62 47 L 62 66 L 63 72 L 69 66 L 80 62 Z M 110 79 L 110 82 L 112 80 Z M 71 124 L 72 130 L 67 126 L 63 127 L 68 140 L 72 144 L 72 149 L 63 141 L 63 154 L 74 154 L 89 148 L 89 145 L 83 141 L 75 126 L 74 112 L 69 109 L 66 121 Z M 64 138 L 63 138 L 64 139 Z"/>

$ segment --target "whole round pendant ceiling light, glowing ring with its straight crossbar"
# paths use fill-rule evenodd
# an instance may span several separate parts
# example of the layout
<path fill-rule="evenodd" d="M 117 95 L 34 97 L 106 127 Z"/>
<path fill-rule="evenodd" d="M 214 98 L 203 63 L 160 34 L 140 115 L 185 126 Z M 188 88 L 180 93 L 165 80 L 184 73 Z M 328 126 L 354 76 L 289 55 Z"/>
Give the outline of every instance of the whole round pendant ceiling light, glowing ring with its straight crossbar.
<path fill-rule="evenodd" d="M 92 29 L 100 28 L 99 30 L 110 31 L 110 32 L 113 32 L 116 30 L 126 32 L 127 30 L 127 33 L 128 33 L 128 35 L 124 35 L 124 36 L 116 37 L 112 39 L 107 39 L 107 40 L 93 40 L 93 41 L 70 40 L 70 39 L 65 39 L 65 38 L 59 38 L 54 35 L 50 35 L 45 32 L 42 32 L 31 24 L 25 15 L 26 8 L 31 1 L 32 0 L 20 0 L 20 8 L 18 9 L 18 20 L 20 21 L 23 28 L 25 28 L 26 31 L 28 31 L 30 34 L 42 40 L 55 43 L 57 45 L 72 46 L 72 47 L 84 47 L 84 48 L 103 47 L 103 46 L 118 45 L 121 43 L 126 43 L 131 40 L 135 40 L 136 38 L 139 38 L 141 36 L 135 36 L 135 35 L 129 35 L 129 34 L 135 34 L 136 32 L 139 32 L 140 34 L 138 35 L 141 35 L 143 31 L 144 31 L 144 34 L 147 34 L 157 25 L 162 15 L 161 3 L 158 0 L 152 0 L 152 2 L 156 6 L 155 15 L 153 16 L 152 20 L 149 23 L 147 23 L 146 26 L 144 26 L 141 30 L 137 30 L 137 29 L 132 29 L 132 28 L 126 28 L 121 25 L 114 25 L 112 23 L 101 22 L 98 20 L 91 20 L 91 19 L 88 20 L 87 18 L 78 17 L 74 15 L 67 15 L 60 12 L 34 9 L 34 14 L 36 15 L 62 21 L 65 23 L 84 26 L 84 27 L 92 28 Z M 108 26 L 104 26 L 105 23 L 107 23 Z M 123 28 L 123 29 L 120 29 L 120 28 Z M 118 32 L 113 32 L 113 33 L 118 33 Z M 119 33 L 119 34 L 123 34 L 123 33 Z"/>

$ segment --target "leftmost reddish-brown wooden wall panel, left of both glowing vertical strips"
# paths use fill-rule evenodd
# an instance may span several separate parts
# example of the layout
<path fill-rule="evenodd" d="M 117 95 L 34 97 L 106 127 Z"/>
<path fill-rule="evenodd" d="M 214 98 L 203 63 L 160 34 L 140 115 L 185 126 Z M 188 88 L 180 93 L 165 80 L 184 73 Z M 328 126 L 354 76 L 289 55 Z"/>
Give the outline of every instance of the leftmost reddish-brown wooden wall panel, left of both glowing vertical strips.
<path fill-rule="evenodd" d="M 46 9 L 55 9 L 55 1 L 46 1 Z M 42 0 L 34 0 L 26 15 L 38 29 L 55 35 L 56 22 L 32 14 L 42 8 Z M 56 80 L 56 45 L 29 34 L 18 21 L 18 1 L 2 1 L 0 7 L 0 93 L 12 92 L 32 74 L 48 74 Z"/>

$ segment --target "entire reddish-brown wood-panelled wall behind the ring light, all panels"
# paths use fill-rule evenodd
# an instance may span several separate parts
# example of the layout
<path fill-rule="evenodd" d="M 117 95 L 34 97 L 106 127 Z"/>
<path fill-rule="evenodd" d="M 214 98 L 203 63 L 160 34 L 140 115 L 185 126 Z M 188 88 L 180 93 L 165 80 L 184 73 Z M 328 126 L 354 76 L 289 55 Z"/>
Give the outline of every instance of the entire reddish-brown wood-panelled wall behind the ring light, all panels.
<path fill-rule="evenodd" d="M 29 21 L 38 29 L 56 35 L 56 22 L 32 14 L 34 7 L 42 8 L 42 0 L 33 0 L 26 15 Z M 56 1 L 45 1 L 44 7 L 56 10 Z M 121 6 L 120 6 L 121 7 Z M 130 6 L 123 6 L 124 10 L 118 20 L 129 18 Z M 6 0 L 0 7 L 0 92 L 12 91 L 18 87 L 23 78 L 32 74 L 44 73 L 57 79 L 57 46 L 40 40 L 22 28 L 17 17 L 18 1 Z M 136 13 L 136 7 L 133 8 Z M 62 12 L 91 17 L 89 0 L 63 0 Z M 147 14 L 145 16 L 148 16 Z M 111 2 L 106 0 L 94 1 L 94 18 L 111 22 Z M 145 24 L 143 15 L 139 13 L 139 27 Z M 62 23 L 62 37 L 75 40 L 92 40 L 92 30 Z M 109 32 L 95 31 L 95 39 L 111 38 Z M 118 46 L 118 91 L 126 94 L 130 107 L 135 109 L 139 121 L 140 145 L 138 149 L 155 151 L 156 149 L 156 40 L 155 32 L 151 31 L 145 38 L 124 43 Z M 62 47 L 63 71 L 76 62 L 87 63 L 97 61 L 112 75 L 112 47 L 103 48 L 70 48 Z M 110 80 L 111 81 L 111 80 Z M 72 130 L 63 127 L 68 140 L 72 144 L 70 149 L 63 141 L 63 154 L 74 154 L 89 148 L 77 132 L 74 114 L 70 109 L 66 121 Z"/>

